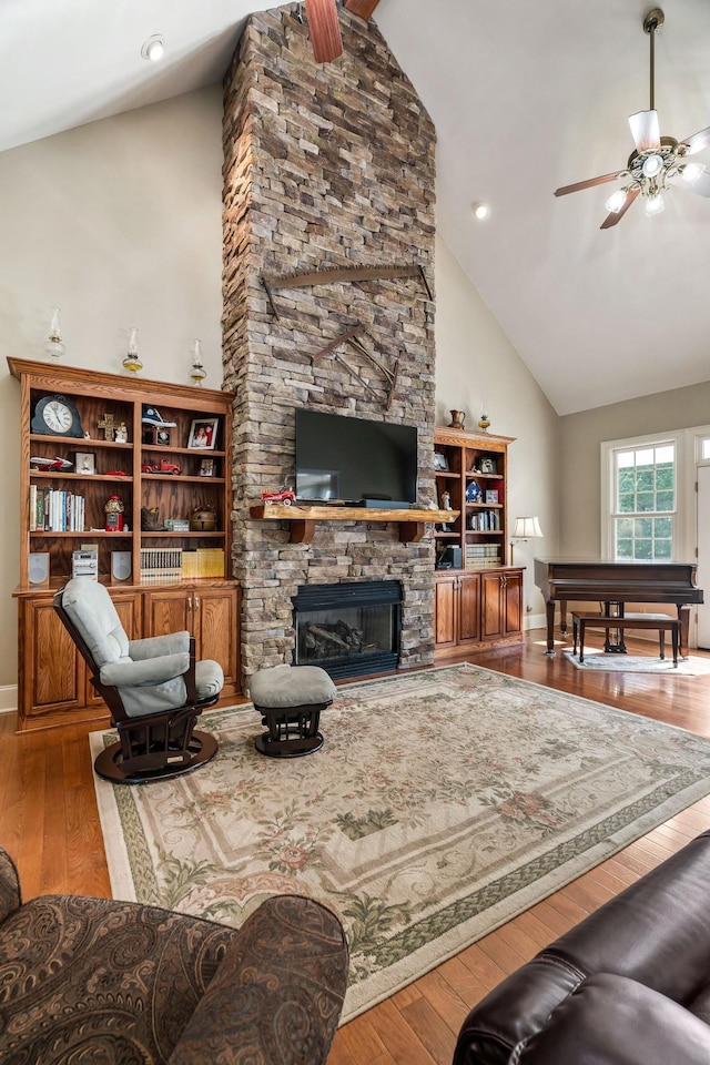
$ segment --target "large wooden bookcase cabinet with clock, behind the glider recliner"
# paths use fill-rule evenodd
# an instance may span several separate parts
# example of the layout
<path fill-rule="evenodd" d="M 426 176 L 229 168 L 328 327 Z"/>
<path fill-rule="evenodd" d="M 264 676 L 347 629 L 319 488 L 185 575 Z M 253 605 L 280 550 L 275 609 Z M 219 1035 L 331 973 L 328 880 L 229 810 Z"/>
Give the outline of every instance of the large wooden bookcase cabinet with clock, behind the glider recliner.
<path fill-rule="evenodd" d="M 221 662 L 221 702 L 231 700 L 240 690 L 233 394 L 26 359 L 8 365 L 21 406 L 20 729 L 105 713 L 52 609 L 73 552 L 87 545 L 129 636 L 187 628 L 197 653 Z M 110 497 L 120 509 L 114 528 Z M 49 558 L 44 581 L 33 582 L 34 556 Z"/>

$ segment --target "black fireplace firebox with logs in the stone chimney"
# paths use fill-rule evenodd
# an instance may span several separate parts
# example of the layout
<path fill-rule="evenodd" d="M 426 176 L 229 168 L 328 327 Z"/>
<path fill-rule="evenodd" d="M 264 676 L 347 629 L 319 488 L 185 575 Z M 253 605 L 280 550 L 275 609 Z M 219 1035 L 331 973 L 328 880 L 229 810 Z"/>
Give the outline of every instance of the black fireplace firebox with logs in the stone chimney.
<path fill-rule="evenodd" d="M 293 608 L 294 666 L 320 666 L 336 680 L 397 668 L 402 636 L 398 580 L 304 585 Z"/>

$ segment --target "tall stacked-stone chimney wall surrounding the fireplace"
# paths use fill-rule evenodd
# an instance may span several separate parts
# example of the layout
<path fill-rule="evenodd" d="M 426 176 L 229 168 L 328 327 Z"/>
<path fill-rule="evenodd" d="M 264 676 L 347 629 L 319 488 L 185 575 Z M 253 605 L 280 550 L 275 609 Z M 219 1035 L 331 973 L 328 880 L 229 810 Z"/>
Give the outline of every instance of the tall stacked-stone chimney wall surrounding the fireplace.
<path fill-rule="evenodd" d="M 398 526 L 318 523 L 312 544 L 255 521 L 250 504 L 293 475 L 294 408 L 404 422 L 419 433 L 419 501 L 434 498 L 434 303 L 419 280 L 282 290 L 277 321 L 262 274 L 420 264 L 434 286 L 435 132 L 374 23 L 339 10 L 344 54 L 316 65 L 288 4 L 250 17 L 225 75 L 224 387 L 234 419 L 234 576 L 243 588 L 246 676 L 291 662 L 300 585 L 403 584 L 402 667 L 434 656 L 434 541 Z M 305 19 L 305 16 L 304 16 Z M 383 363 L 399 358 L 389 410 L 383 377 L 351 347 L 345 367 L 312 356 L 359 323 Z M 327 440 L 324 440 L 327 448 Z"/>

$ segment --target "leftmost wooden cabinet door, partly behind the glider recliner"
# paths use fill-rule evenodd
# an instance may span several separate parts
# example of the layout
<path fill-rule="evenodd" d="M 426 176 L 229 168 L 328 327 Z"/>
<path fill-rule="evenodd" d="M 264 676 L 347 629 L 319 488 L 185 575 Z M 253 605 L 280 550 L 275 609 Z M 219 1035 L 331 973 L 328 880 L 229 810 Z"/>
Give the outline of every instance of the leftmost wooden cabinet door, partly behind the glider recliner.
<path fill-rule="evenodd" d="M 20 721 L 84 704 L 84 665 L 51 596 L 20 600 Z"/>

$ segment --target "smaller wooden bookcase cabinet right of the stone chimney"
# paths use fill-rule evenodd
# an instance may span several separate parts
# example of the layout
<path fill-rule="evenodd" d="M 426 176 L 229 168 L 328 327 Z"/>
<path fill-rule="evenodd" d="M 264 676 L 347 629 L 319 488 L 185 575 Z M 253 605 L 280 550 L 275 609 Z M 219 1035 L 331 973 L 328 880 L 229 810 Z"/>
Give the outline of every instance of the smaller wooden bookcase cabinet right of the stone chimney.
<path fill-rule="evenodd" d="M 438 504 L 460 511 L 435 531 L 437 659 L 523 639 L 523 570 L 506 566 L 511 443 L 508 436 L 435 429 Z"/>

